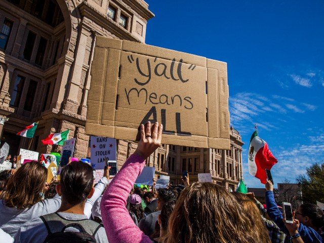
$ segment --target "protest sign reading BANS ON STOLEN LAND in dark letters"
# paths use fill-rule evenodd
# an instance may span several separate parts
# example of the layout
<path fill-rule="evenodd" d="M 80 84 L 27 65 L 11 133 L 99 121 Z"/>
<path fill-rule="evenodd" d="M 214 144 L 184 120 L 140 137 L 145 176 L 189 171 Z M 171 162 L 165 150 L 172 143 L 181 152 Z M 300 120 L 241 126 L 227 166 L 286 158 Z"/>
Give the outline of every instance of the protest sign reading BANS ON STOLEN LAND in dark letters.
<path fill-rule="evenodd" d="M 91 136 L 91 165 L 103 170 L 108 161 L 116 161 L 116 139 Z"/>

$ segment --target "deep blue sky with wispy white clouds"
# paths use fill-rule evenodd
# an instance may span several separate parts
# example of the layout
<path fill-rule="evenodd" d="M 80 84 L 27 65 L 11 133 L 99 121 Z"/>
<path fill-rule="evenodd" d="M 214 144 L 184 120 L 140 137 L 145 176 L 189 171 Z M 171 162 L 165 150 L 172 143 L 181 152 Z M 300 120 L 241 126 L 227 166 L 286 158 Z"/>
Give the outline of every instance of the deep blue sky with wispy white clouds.
<path fill-rule="evenodd" d="M 147 0 L 146 43 L 227 62 L 231 125 L 242 135 L 244 179 L 254 124 L 292 182 L 324 160 L 324 2 Z"/>

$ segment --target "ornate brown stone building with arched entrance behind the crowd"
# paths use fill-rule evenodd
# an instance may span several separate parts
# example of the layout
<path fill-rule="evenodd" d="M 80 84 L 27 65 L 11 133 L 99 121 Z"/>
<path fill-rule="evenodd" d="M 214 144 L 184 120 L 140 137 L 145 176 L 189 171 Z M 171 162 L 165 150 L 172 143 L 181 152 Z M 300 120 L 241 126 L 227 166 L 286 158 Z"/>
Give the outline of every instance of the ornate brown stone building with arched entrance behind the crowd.
<path fill-rule="evenodd" d="M 20 148 L 41 153 L 60 150 L 41 140 L 69 129 L 75 157 L 89 156 L 85 134 L 87 96 L 96 36 L 145 42 L 154 17 L 143 0 L 3 0 L 0 3 L 0 134 L 10 153 Z M 31 141 L 15 134 L 38 121 Z M 163 145 L 147 160 L 156 174 L 179 182 L 186 169 L 212 174 L 227 188 L 242 176 L 240 135 L 230 130 L 231 150 Z M 121 166 L 136 143 L 117 141 Z M 232 188 L 232 189 L 233 189 Z"/>

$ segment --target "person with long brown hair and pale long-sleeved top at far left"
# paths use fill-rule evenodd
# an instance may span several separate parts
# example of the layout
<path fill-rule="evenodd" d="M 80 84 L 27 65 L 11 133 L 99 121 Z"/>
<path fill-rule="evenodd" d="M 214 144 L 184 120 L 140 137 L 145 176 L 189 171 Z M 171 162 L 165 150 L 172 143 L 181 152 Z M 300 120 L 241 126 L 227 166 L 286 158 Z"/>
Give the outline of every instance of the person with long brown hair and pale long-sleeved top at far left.
<path fill-rule="evenodd" d="M 9 178 L 0 200 L 0 227 L 12 237 L 28 220 L 60 207 L 59 196 L 42 200 L 46 179 L 47 169 L 38 162 L 22 165 Z"/>

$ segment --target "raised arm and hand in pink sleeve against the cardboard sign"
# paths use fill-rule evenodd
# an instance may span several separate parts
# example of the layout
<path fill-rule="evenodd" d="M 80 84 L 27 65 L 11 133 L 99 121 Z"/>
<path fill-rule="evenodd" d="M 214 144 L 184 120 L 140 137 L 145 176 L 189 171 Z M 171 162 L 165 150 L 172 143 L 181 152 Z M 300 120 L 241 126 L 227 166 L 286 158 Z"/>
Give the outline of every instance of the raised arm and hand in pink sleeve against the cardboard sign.
<path fill-rule="evenodd" d="M 141 140 L 132 154 L 112 179 L 101 199 L 101 216 L 110 243 L 151 243 L 134 223 L 126 209 L 127 197 L 136 178 L 142 172 L 145 159 L 160 146 L 162 126 L 155 123 L 151 134 L 150 123 L 141 125 Z"/>

